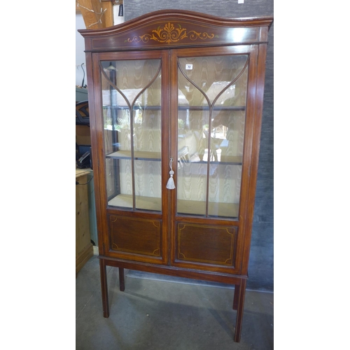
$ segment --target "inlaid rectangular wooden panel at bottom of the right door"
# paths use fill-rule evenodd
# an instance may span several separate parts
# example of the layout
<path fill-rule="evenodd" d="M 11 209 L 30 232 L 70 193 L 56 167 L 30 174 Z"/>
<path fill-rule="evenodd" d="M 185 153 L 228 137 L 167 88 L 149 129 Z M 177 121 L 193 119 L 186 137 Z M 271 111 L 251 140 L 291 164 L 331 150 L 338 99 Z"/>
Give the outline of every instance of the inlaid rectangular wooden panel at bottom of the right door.
<path fill-rule="evenodd" d="M 233 266 L 236 239 L 236 227 L 178 223 L 177 259 Z"/>

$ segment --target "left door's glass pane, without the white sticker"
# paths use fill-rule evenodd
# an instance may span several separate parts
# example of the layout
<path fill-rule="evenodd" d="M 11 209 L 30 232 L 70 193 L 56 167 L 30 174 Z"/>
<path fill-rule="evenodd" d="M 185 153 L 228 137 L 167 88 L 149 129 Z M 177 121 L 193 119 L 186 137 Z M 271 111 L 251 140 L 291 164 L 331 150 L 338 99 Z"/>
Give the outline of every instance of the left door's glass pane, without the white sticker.
<path fill-rule="evenodd" d="M 109 205 L 161 210 L 160 59 L 101 62 Z"/>

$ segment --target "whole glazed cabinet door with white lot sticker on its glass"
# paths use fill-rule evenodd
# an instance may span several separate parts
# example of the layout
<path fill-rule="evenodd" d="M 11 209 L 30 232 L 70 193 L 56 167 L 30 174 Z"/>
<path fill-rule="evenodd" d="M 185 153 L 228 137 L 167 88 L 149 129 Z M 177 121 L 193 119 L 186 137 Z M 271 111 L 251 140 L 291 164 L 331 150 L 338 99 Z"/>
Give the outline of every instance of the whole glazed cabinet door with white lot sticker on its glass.
<path fill-rule="evenodd" d="M 255 59 L 253 46 L 173 52 L 174 265 L 239 271 Z"/>

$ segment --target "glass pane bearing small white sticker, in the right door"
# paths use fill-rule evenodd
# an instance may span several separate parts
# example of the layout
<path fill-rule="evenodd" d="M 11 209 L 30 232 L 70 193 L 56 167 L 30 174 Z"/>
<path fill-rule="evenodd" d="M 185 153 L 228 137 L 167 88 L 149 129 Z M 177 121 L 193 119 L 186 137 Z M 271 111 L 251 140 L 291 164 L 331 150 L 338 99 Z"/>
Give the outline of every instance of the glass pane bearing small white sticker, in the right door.
<path fill-rule="evenodd" d="M 248 55 L 181 57 L 177 211 L 238 217 Z"/>

